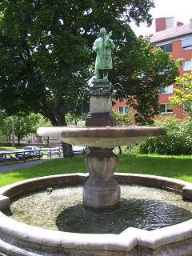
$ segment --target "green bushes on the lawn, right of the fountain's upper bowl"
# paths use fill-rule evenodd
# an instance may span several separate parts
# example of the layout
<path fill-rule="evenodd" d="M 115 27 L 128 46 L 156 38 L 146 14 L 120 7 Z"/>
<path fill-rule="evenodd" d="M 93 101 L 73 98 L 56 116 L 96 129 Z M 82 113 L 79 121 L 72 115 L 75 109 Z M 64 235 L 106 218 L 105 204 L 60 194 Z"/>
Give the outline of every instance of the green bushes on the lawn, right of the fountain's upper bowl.
<path fill-rule="evenodd" d="M 140 144 L 141 154 L 192 154 L 192 122 L 186 117 L 181 120 L 174 116 L 160 116 L 156 126 L 166 128 L 166 135 L 147 138 Z"/>

